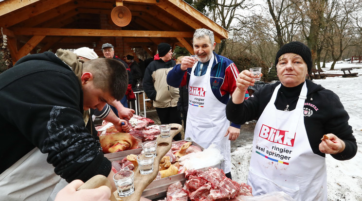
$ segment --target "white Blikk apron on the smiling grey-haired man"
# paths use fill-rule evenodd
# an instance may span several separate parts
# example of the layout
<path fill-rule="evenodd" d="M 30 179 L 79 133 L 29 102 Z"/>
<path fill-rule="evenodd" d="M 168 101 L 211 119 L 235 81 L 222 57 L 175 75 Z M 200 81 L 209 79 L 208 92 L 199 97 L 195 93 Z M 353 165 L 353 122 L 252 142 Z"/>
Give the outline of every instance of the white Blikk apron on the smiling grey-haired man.
<path fill-rule="evenodd" d="M 192 68 L 188 91 L 189 107 L 187 111 L 185 138 L 190 137 L 204 149 L 215 143 L 224 157 L 225 173 L 231 171 L 230 140 L 224 137 L 230 125 L 226 118 L 226 105 L 218 101 L 211 90 L 210 72 L 215 56 L 210 59 L 207 71 L 195 76 L 197 63 Z"/>

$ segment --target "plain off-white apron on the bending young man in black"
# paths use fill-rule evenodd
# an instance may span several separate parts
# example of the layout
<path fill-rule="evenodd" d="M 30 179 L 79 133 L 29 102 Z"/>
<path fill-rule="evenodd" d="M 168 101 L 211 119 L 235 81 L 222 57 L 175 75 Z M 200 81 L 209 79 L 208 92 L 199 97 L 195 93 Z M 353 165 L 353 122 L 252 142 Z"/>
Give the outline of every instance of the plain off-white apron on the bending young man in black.
<path fill-rule="evenodd" d="M 60 176 L 47 154 L 33 149 L 0 175 L 0 201 L 46 201 Z"/>

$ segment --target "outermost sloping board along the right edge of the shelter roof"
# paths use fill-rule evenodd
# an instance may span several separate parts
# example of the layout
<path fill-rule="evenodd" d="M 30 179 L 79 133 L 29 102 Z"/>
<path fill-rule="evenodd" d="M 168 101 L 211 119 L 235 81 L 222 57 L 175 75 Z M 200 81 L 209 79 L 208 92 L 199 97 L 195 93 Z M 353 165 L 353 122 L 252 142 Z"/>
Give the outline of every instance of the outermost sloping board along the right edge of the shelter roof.
<path fill-rule="evenodd" d="M 189 4 L 184 2 L 183 0 L 167 0 L 167 1 L 173 3 L 175 6 L 179 7 L 180 10 L 183 10 L 183 11 L 187 12 L 188 14 L 190 14 L 192 17 L 198 19 L 200 22 L 205 24 L 207 27 L 214 28 L 213 31 L 220 34 L 220 36 L 223 37 L 222 39 L 229 38 L 229 32 L 226 29 L 224 29 L 223 27 L 218 25 L 216 22 L 214 22 L 210 18 L 204 16 L 202 13 L 200 13 L 198 10 L 196 10 L 195 8 L 193 8 L 192 6 L 190 6 Z M 156 5 L 161 7 L 161 8 L 169 7 L 165 2 L 164 3 L 158 3 Z M 169 9 L 167 9 L 165 11 L 169 12 Z M 170 14 L 173 15 L 174 13 L 170 13 Z M 198 29 L 198 28 L 194 27 L 194 29 Z"/>

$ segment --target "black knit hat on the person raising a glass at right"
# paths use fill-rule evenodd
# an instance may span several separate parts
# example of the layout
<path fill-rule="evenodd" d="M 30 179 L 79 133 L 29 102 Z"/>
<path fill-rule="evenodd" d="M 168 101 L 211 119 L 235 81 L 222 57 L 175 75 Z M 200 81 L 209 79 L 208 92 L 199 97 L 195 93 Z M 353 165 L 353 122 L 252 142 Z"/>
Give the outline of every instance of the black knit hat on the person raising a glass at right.
<path fill-rule="evenodd" d="M 306 62 L 308 73 L 310 73 L 310 71 L 312 70 L 312 53 L 308 46 L 304 45 L 299 41 L 293 41 L 283 45 L 276 53 L 275 66 L 279 61 L 279 57 L 285 53 L 295 53 L 300 55 L 303 58 L 304 62 Z"/>

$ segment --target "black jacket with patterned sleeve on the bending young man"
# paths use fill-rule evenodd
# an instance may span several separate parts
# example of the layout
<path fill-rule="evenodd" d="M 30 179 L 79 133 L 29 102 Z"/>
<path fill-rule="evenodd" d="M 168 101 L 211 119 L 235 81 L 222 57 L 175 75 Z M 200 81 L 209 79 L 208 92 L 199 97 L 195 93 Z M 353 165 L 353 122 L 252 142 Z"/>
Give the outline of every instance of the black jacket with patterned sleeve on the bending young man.
<path fill-rule="evenodd" d="M 0 173 L 37 147 L 68 182 L 109 175 L 83 121 L 81 84 L 54 53 L 25 56 L 0 74 L 0 110 Z"/>

